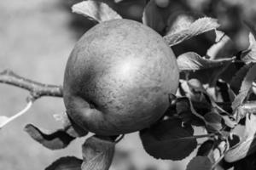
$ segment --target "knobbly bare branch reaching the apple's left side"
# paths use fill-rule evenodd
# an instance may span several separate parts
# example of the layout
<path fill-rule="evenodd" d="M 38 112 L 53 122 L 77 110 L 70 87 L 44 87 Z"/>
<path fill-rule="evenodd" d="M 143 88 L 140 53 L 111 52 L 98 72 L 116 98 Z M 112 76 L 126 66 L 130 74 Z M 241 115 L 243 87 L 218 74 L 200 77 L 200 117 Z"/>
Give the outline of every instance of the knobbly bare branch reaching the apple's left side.
<path fill-rule="evenodd" d="M 63 96 L 63 89 L 61 86 L 35 82 L 26 79 L 25 77 L 20 77 L 10 70 L 0 72 L 0 83 L 1 82 L 28 90 L 32 95 L 32 99 L 38 99 L 42 96 Z"/>

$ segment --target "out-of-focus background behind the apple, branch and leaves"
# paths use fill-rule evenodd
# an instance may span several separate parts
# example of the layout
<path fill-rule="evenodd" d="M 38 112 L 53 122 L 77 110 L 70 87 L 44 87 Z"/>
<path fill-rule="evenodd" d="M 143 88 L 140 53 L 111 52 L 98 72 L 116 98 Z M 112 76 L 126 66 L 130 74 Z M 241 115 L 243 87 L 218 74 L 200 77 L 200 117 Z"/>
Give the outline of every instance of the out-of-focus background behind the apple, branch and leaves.
<path fill-rule="evenodd" d="M 175 1 L 175 0 L 172 0 Z M 143 0 L 124 0 L 115 4 L 106 0 L 124 18 L 141 21 Z M 255 0 L 180 0 L 184 9 L 196 10 L 218 18 L 238 49 L 247 47 L 247 29 L 242 20 L 256 25 Z M 192 2 L 192 3 L 191 3 Z M 61 85 L 65 64 L 74 43 L 95 23 L 71 13 L 78 0 L 9 0 L 0 2 L 0 71 L 9 68 L 20 76 L 38 82 Z M 172 11 L 171 11 L 172 12 Z M 200 41 L 200 40 L 199 40 Z M 201 48 L 198 45 L 197 48 Z M 28 93 L 0 84 L 0 115 L 12 116 L 26 105 Z M 25 116 L 0 131 L 0 169 L 44 169 L 61 156 L 81 157 L 77 139 L 65 150 L 48 150 L 33 141 L 24 131 L 27 123 L 53 131 L 61 127 L 54 114 L 65 111 L 62 99 L 38 99 Z M 185 161 L 160 161 L 148 156 L 137 133 L 125 135 L 117 145 L 112 170 L 177 170 Z"/>

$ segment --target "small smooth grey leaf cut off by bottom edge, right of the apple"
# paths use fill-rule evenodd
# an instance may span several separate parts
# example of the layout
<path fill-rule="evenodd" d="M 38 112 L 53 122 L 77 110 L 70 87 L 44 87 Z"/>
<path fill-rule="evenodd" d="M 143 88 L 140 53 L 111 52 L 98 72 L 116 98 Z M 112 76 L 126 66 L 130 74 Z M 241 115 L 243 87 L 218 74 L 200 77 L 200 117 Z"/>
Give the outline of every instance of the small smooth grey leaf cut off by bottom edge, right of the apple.
<path fill-rule="evenodd" d="M 211 170 L 212 162 L 207 156 L 195 156 L 187 166 L 186 170 Z"/>

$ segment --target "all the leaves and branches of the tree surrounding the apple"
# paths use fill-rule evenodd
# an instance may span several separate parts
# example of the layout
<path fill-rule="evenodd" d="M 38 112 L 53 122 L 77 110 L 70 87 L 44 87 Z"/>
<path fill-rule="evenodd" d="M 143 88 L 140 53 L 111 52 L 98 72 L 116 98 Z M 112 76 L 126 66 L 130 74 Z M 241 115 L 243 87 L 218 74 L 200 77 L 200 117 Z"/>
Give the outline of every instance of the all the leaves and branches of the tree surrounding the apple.
<path fill-rule="evenodd" d="M 120 2 L 122 0 L 115 1 Z M 93 0 L 77 3 L 72 10 L 97 23 L 122 18 L 107 3 Z M 178 161 L 189 156 L 187 170 L 255 169 L 256 25 L 245 21 L 249 46 L 228 53 L 230 48 L 227 47 L 234 42 L 221 30 L 218 20 L 188 12 L 187 7 L 181 11 L 179 1 L 146 1 L 142 21 L 158 31 L 174 51 L 185 44 L 194 45 L 196 38 L 212 38 L 212 45 L 205 49 L 205 54 L 194 50 L 180 53 L 179 50 L 177 94 L 170 96 L 165 116 L 139 132 L 144 150 L 155 159 Z M 12 71 L 1 72 L 0 82 L 30 91 L 26 108 L 15 116 L 0 116 L 0 127 L 24 114 L 34 100 L 62 95 L 61 87 L 33 82 Z M 66 114 L 56 119 L 63 127 L 55 132 L 45 133 L 32 124 L 26 125 L 25 131 L 50 150 L 63 149 L 73 139 L 88 134 Z M 122 135 L 90 136 L 82 146 L 83 160 L 65 156 L 46 169 L 108 170 L 115 144 L 120 139 Z"/>

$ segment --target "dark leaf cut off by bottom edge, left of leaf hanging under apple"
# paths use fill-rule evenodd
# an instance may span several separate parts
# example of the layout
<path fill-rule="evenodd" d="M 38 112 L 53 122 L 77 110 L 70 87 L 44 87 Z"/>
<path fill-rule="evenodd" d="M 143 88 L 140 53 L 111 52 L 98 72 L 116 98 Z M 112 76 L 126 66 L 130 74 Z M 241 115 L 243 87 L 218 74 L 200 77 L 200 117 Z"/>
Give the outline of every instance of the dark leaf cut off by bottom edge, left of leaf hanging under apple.
<path fill-rule="evenodd" d="M 61 157 L 45 170 L 81 170 L 82 162 L 81 159 L 74 156 Z"/>

